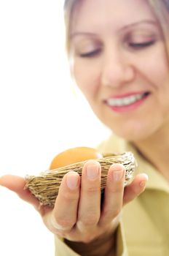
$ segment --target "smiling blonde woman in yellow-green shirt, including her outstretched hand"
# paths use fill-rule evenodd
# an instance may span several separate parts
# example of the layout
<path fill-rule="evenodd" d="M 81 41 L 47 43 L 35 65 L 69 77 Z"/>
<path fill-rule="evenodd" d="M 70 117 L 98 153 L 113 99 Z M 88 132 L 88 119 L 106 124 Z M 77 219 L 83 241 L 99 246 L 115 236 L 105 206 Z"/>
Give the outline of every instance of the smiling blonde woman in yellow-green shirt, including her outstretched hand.
<path fill-rule="evenodd" d="M 56 255 L 169 254 L 168 9 L 167 0 L 66 1 L 72 76 L 116 134 L 99 149 L 133 151 L 138 174 L 124 191 L 125 168 L 112 165 L 101 208 L 101 166 L 89 161 L 81 181 L 64 176 L 52 211 L 23 190 L 23 178 L 1 177 L 40 212 Z"/>

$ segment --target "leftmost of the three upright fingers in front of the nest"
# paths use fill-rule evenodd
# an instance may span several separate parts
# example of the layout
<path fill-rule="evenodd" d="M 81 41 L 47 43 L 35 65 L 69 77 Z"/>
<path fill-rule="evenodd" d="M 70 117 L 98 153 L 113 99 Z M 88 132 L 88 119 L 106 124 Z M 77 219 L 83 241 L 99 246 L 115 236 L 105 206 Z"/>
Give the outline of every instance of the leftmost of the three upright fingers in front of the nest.
<path fill-rule="evenodd" d="M 78 173 L 71 171 L 63 177 L 55 207 L 47 218 L 44 218 L 44 222 L 53 233 L 71 230 L 76 223 L 79 185 Z"/>

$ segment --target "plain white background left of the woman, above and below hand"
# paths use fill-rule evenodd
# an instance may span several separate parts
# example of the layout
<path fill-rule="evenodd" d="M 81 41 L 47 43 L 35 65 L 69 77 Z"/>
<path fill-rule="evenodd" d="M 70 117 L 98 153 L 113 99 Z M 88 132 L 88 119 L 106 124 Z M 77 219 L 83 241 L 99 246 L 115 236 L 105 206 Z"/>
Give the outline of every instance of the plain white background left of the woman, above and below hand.
<path fill-rule="evenodd" d="M 0 1 L 0 176 L 47 170 L 60 151 L 109 134 L 71 82 L 63 1 Z M 0 187 L 0 255 L 54 255 L 39 214 Z"/>

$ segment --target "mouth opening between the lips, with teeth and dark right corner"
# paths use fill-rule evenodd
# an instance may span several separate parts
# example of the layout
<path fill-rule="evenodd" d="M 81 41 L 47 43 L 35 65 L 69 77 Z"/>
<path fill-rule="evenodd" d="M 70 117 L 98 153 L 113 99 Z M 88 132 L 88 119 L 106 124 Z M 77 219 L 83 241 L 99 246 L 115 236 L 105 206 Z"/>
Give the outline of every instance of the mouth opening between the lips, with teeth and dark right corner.
<path fill-rule="evenodd" d="M 127 97 L 121 97 L 121 98 L 110 98 L 106 99 L 106 104 L 111 107 L 127 107 L 130 105 L 133 105 L 135 102 L 139 102 L 141 99 L 144 99 L 148 97 L 149 91 L 146 91 L 141 94 L 133 94 Z"/>

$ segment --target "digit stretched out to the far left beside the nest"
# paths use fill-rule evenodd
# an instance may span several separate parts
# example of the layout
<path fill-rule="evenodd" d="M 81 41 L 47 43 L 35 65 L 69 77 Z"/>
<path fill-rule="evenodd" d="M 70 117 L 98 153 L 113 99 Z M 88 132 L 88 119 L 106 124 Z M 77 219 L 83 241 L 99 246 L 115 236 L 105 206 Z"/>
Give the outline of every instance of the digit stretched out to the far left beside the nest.
<path fill-rule="evenodd" d="M 0 178 L 0 185 L 15 192 L 21 199 L 31 203 L 36 210 L 39 209 L 39 200 L 31 194 L 28 189 L 25 189 L 25 178 L 14 175 L 5 175 Z"/>

